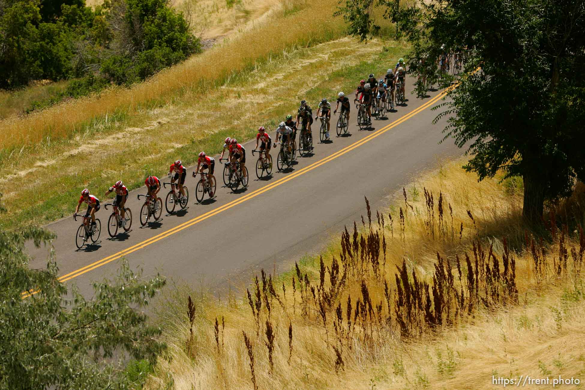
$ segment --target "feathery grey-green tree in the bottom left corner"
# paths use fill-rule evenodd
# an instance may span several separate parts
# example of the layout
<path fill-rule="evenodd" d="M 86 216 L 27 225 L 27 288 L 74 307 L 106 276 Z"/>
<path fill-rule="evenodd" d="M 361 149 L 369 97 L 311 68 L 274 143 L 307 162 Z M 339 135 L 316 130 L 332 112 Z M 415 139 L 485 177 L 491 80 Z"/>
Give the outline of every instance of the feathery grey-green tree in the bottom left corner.
<path fill-rule="evenodd" d="M 115 281 L 95 282 L 86 299 L 59 282 L 52 251 L 46 270 L 29 268 L 25 241 L 38 247 L 53 238 L 38 227 L 0 231 L 0 389 L 128 388 L 108 361 L 121 351 L 153 363 L 164 350 L 160 327 L 141 309 L 165 281 L 143 279 L 123 262 Z"/>

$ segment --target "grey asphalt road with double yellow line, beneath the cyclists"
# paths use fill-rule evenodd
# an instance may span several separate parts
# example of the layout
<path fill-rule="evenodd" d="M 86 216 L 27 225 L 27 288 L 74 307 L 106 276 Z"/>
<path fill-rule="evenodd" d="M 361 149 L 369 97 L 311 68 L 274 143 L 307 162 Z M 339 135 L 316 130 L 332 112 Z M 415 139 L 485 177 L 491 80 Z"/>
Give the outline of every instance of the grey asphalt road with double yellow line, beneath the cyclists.
<path fill-rule="evenodd" d="M 438 157 L 462 153 L 450 141 L 438 144 L 444 123 L 432 125 L 436 112 L 430 108 L 439 92 L 429 94 L 424 101 L 407 94 L 406 105 L 387 113 L 387 119 L 373 118 L 367 130 L 357 127 L 352 106 L 350 134 L 344 137 L 335 137 L 337 116 L 332 116 L 331 143 L 318 143 L 315 132 L 314 154 L 298 158 L 287 172 L 276 170 L 273 150 L 275 168 L 266 181 L 256 180 L 257 157 L 250 153 L 255 142 L 249 141 L 245 147 L 250 183 L 245 191 L 233 193 L 220 187 L 222 166 L 218 165 L 216 198 L 196 204 L 196 181 L 190 177 L 192 169 L 188 170 L 188 208 L 175 215 L 163 211 L 159 222 L 146 227 L 140 227 L 138 220 L 143 201 L 136 199 L 146 190 L 132 191 L 126 203 L 135 218 L 132 230 L 115 239 L 106 230 L 110 212 L 103 207 L 96 215 L 102 222 L 99 241 L 82 250 L 76 250 L 74 241 L 78 222 L 66 218 L 50 224 L 47 227 L 57 233 L 54 247 L 61 281 L 74 282 L 88 294 L 91 281 L 111 277 L 122 256 L 133 267 L 142 265 L 147 275 L 160 271 L 176 280 L 208 286 L 226 278 L 248 278 L 250 270 L 260 267 L 285 270 L 291 261 L 321 249 L 345 223 L 359 219 L 365 209 L 364 195 L 374 209 L 384 206 L 387 195 L 417 171 L 432 166 Z M 164 203 L 166 190 L 161 189 L 160 196 Z M 29 245 L 29 251 L 35 257 L 31 267 L 46 266 L 47 248 Z"/>

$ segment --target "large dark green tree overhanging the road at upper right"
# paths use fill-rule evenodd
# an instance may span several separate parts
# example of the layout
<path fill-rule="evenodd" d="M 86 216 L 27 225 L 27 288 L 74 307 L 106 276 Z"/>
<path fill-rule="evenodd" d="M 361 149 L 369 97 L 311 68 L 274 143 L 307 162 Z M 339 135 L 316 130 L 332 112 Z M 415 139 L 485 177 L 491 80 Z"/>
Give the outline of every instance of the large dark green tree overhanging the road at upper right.
<path fill-rule="evenodd" d="M 443 86 L 459 86 L 437 119 L 449 118 L 445 139 L 471 154 L 467 171 L 479 180 L 500 169 L 520 175 L 531 222 L 541 220 L 546 200 L 585 180 L 583 0 L 347 0 L 339 13 L 367 39 L 375 7 L 412 43 L 410 73 L 435 72 L 443 45 L 463 51 L 467 73 L 443 78 Z"/>

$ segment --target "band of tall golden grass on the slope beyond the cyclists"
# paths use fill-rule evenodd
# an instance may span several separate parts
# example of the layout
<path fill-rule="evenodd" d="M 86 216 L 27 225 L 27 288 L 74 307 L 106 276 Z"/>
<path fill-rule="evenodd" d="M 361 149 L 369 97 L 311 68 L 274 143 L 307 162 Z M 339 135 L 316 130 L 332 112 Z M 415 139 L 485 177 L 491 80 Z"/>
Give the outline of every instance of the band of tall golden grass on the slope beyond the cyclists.
<path fill-rule="evenodd" d="M 71 136 L 105 115 L 132 116 L 140 108 L 170 102 L 185 91 L 205 91 L 252 70 L 258 61 L 290 46 L 308 46 L 339 37 L 344 25 L 331 15 L 336 3 L 315 0 L 304 9 L 283 17 L 267 18 L 257 26 L 225 40 L 221 45 L 167 68 L 132 88 L 112 87 L 98 95 L 67 101 L 23 119 L 0 121 L 0 149 L 11 149 L 41 140 Z"/>

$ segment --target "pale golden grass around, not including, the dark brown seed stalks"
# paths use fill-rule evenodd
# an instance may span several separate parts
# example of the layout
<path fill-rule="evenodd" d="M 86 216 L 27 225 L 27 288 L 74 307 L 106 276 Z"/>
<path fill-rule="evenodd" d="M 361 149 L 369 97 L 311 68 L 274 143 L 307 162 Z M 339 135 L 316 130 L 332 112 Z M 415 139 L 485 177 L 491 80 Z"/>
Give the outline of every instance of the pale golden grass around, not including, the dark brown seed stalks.
<path fill-rule="evenodd" d="M 579 251 L 580 246 L 573 239 L 559 246 L 559 232 L 557 242 L 545 244 L 543 248 L 548 252 L 543 263 L 546 272 L 535 271 L 530 251 L 518 247 L 512 252 L 518 295 L 508 295 L 510 299 L 503 298 L 489 309 L 474 309 L 472 315 L 450 315 L 457 320 L 456 325 L 443 324 L 434 330 L 421 328 L 421 334 L 408 339 L 401 336 L 394 311 L 400 295 L 394 283 L 395 266 L 401 266 L 405 259 L 408 273 L 416 271 L 419 281 L 429 281 L 437 251 L 455 267 L 455 254 L 461 256 L 466 252 L 473 258 L 470 244 L 479 237 L 486 251 L 485 244 L 491 240 L 495 256 L 501 259 L 502 241 L 487 235 L 488 229 L 504 221 L 512 225 L 501 231 L 522 230 L 518 217 L 521 194 L 505 191 L 495 180 L 477 183 L 473 174 L 460 169 L 462 164 L 463 160 L 444 162 L 438 170 L 422 175 L 409 185 L 406 200 L 397 194 L 395 206 L 383 212 L 384 229 L 380 230 L 378 217 L 373 213 L 373 229 L 384 232 L 387 243 L 386 261 L 382 263 L 382 255 L 379 257 L 379 272 L 373 271 L 373 262 L 362 265 L 353 262 L 367 271 L 352 270 L 350 266 L 344 279 L 341 272 L 350 260 L 346 257 L 345 262 L 338 263 L 343 258 L 342 247 L 332 242 L 322 255 L 325 268 L 321 272 L 318 260 L 305 259 L 298 271 L 293 268 L 276 277 L 260 277 L 249 287 L 250 295 L 246 297 L 244 293 L 242 299 L 230 294 L 218 302 L 203 293 L 197 294 L 192 323 L 194 337 L 190 341 L 191 325 L 184 308 L 187 295 L 194 293 L 188 288 L 167 292 L 160 315 L 166 324 L 166 340 L 173 359 L 159 360 L 146 388 L 173 382 L 177 389 L 253 388 L 256 384 L 259 389 L 475 389 L 493 388 L 492 375 L 543 377 L 549 371 L 551 380 L 559 374 L 585 379 L 585 327 L 582 325 L 585 290 L 575 273 L 580 270 L 580 264 L 570 256 L 573 260 L 569 260 L 567 271 L 555 275 L 559 250 L 576 247 Z M 429 191 L 427 194 L 433 194 L 434 218 L 429 218 L 429 198 L 423 195 L 423 186 Z M 443 207 L 441 227 L 438 226 L 439 193 Z M 473 221 L 467 210 L 472 213 Z M 405 215 L 403 227 L 400 211 Z M 392 223 L 388 213 L 393 216 Z M 363 225 L 362 221 L 358 224 L 360 233 L 371 231 L 367 216 Z M 581 249 L 584 248 L 582 243 Z M 338 260 L 332 262 L 333 256 Z M 579 258 L 578 254 L 575 256 Z M 335 264 L 339 265 L 339 274 Z M 299 283 L 298 275 L 304 280 L 305 273 L 310 286 L 315 288 L 316 299 L 311 288 L 305 289 L 308 285 Z M 338 282 L 330 282 L 333 275 L 337 275 Z M 321 277 L 324 283 L 319 282 Z M 293 278 L 296 278 L 295 289 Z M 339 286 L 340 280 L 345 283 L 329 295 L 334 299 L 331 305 L 323 305 L 329 289 Z M 385 297 L 383 280 L 390 282 L 389 298 Z M 355 309 L 350 312 L 353 325 L 349 331 L 348 296 L 352 298 L 350 307 L 355 308 L 358 299 L 364 303 L 371 301 L 374 306 L 370 311 L 367 304 L 361 305 L 362 312 L 356 317 Z M 515 299 L 518 302 L 511 303 Z M 387 302 L 392 305 L 390 319 Z M 507 306 L 502 306 L 502 302 L 507 302 Z M 250 341 L 250 348 L 245 337 Z M 269 345 L 273 349 L 273 363 L 270 363 Z"/>

